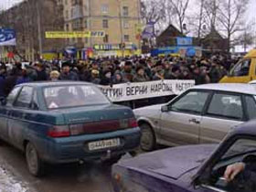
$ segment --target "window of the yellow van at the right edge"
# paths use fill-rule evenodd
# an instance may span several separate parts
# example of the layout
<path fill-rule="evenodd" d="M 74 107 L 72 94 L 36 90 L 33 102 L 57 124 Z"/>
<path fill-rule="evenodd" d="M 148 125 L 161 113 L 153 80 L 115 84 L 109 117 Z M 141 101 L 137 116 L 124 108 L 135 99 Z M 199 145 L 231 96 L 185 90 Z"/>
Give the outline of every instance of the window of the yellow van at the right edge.
<path fill-rule="evenodd" d="M 243 59 L 231 69 L 230 76 L 242 77 L 248 76 L 251 67 L 251 59 Z"/>

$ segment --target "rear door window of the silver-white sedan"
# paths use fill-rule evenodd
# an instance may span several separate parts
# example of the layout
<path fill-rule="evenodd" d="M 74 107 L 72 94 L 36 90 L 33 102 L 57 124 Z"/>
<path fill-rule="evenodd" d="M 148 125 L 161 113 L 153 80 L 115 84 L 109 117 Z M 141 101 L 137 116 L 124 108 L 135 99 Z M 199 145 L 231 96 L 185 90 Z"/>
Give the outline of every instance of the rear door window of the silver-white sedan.
<path fill-rule="evenodd" d="M 241 120 L 243 112 L 240 96 L 219 93 L 214 94 L 210 101 L 207 114 Z"/>

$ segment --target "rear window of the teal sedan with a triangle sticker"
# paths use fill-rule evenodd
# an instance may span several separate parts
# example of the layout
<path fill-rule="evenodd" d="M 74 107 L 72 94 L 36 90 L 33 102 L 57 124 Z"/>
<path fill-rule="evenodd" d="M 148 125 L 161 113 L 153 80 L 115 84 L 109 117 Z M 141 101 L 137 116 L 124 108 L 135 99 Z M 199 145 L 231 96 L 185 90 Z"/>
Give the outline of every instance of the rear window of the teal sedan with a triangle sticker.
<path fill-rule="evenodd" d="M 96 87 L 84 85 L 45 88 L 44 97 L 49 110 L 110 103 Z"/>

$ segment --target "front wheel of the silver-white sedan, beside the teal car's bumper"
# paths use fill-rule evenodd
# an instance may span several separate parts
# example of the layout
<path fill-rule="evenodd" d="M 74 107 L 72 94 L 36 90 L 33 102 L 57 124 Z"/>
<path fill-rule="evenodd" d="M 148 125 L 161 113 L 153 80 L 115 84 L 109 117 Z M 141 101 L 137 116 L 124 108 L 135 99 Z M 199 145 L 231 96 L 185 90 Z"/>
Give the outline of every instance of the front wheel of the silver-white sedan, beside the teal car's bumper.
<path fill-rule="evenodd" d="M 150 152 L 155 149 L 155 133 L 153 132 L 152 128 L 148 124 L 140 125 L 142 131 L 142 138 L 141 138 L 141 149 L 146 152 Z"/>

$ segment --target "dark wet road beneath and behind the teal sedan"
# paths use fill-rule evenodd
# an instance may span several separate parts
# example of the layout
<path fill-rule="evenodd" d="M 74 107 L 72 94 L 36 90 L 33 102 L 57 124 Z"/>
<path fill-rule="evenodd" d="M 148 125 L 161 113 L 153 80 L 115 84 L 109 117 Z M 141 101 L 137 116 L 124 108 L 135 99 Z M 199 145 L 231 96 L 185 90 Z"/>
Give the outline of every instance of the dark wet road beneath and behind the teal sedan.
<path fill-rule="evenodd" d="M 111 167 L 100 163 L 49 166 L 48 175 L 37 178 L 28 173 L 25 156 L 0 141 L 0 165 L 27 183 L 29 192 L 112 192 Z"/>

